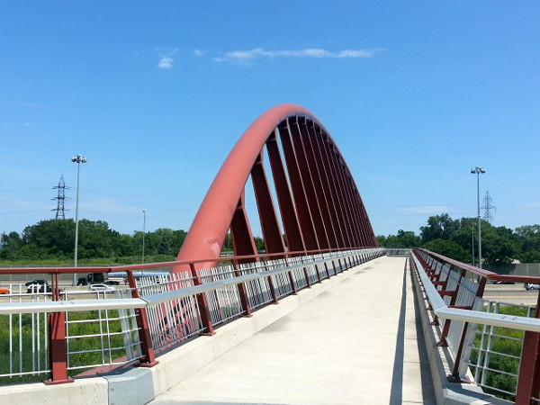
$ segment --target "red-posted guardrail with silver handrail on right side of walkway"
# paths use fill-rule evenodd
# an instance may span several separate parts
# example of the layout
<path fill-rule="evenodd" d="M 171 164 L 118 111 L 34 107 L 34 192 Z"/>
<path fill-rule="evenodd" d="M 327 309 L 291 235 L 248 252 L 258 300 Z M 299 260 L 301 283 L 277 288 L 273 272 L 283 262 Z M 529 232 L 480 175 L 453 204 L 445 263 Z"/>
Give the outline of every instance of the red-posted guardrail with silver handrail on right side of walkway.
<path fill-rule="evenodd" d="M 497 275 L 423 249 L 413 249 L 410 261 L 433 311 L 438 345 L 448 347 L 453 356 L 449 380 L 467 381 L 471 367 L 473 383 L 482 388 L 516 403 L 540 402 L 540 298 L 536 307 L 482 298 L 488 280 L 538 283 L 539 278 Z M 500 313 L 502 307 L 512 311 Z M 515 331 L 512 336 L 503 334 L 508 329 Z M 507 351 L 513 353 L 497 349 L 495 343 L 501 341 L 511 341 L 515 347 Z M 515 371 L 500 366 L 508 360 L 515 362 Z M 496 379 L 508 381 L 501 388 L 493 383 Z"/>

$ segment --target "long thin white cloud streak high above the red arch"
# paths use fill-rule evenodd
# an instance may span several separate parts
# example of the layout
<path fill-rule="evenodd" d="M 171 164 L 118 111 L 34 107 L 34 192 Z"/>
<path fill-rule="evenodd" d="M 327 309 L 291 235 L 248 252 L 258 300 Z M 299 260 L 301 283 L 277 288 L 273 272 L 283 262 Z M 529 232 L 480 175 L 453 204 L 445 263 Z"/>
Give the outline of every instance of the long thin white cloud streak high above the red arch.
<path fill-rule="evenodd" d="M 246 63 L 257 58 L 372 58 L 383 49 L 343 49 L 332 52 L 327 49 L 308 48 L 299 50 L 266 50 L 256 48 L 251 50 L 233 50 L 222 57 L 214 58 L 217 62 Z"/>

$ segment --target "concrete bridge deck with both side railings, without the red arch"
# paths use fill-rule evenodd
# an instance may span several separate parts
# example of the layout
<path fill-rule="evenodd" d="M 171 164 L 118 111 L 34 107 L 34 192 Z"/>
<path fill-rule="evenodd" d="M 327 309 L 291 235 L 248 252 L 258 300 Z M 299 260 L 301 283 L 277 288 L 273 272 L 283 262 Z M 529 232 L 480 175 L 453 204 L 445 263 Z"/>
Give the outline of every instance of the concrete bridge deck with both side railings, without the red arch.
<path fill-rule="evenodd" d="M 535 307 L 514 305 L 523 316 L 509 317 L 500 313 L 509 305 L 482 299 L 488 280 L 521 276 L 380 248 L 196 275 L 131 276 L 132 289 L 92 300 L 64 292 L 56 301 L 46 293 L 28 301 L 12 292 L 0 302 L 12 330 L 0 395 L 8 403 L 111 404 L 502 401 L 488 392 L 517 403 L 537 398 Z M 66 329 L 54 329 L 54 314 L 65 317 Z M 82 324 L 97 325 L 97 333 Z M 498 357 L 513 356 L 496 347 L 500 327 L 525 331 L 511 338 L 520 353 L 513 372 L 496 369 Z M 497 375 L 513 385 L 494 384 Z M 23 377 L 47 384 L 14 384 Z"/>

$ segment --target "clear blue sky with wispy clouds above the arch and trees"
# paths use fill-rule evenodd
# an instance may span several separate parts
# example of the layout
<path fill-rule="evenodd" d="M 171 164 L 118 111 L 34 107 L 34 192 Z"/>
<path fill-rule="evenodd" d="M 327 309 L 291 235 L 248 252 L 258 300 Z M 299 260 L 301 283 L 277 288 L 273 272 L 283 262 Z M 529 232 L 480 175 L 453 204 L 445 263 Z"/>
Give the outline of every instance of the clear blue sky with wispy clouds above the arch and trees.
<path fill-rule="evenodd" d="M 53 218 L 62 174 L 75 216 L 75 154 L 80 218 L 187 230 L 279 103 L 332 134 L 377 235 L 475 216 L 473 166 L 494 225 L 540 223 L 539 21 L 537 1 L 0 0 L 0 232 Z"/>

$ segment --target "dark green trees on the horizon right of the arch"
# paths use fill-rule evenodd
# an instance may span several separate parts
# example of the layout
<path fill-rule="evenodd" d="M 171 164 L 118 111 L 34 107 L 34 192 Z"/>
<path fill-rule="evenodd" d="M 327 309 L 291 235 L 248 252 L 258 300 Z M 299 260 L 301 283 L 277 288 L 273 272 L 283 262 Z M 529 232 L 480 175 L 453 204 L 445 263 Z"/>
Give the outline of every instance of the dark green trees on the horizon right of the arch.
<path fill-rule="evenodd" d="M 507 265 L 515 260 L 521 263 L 540 262 L 540 225 L 526 225 L 514 230 L 494 227 L 481 221 L 482 262 L 485 265 Z M 473 263 L 478 257 L 478 219 L 453 220 L 447 213 L 429 217 L 428 224 L 420 227 L 420 235 L 399 230 L 397 235 L 377 237 L 381 247 L 425 247 L 446 257 L 464 263 Z M 475 263 L 478 266 L 478 263 Z"/>

